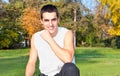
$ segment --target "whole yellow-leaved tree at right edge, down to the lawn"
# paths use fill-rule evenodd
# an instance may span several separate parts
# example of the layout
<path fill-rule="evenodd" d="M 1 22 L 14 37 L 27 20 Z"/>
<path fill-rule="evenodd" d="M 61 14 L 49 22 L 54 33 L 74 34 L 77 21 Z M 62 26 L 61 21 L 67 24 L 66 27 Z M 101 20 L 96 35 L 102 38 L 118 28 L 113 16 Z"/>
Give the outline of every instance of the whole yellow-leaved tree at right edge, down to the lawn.
<path fill-rule="evenodd" d="M 96 21 L 105 46 L 120 47 L 120 0 L 97 0 Z"/>

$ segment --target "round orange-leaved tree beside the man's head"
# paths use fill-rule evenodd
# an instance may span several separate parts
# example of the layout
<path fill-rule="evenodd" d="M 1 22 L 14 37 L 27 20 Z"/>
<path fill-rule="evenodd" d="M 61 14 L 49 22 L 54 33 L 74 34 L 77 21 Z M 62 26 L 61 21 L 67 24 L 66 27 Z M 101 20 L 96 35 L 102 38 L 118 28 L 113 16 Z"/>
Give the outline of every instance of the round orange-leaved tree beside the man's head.
<path fill-rule="evenodd" d="M 40 13 L 36 8 L 25 8 L 24 13 L 21 16 L 21 22 L 23 28 L 28 32 L 29 37 L 31 37 L 33 33 L 42 29 Z"/>

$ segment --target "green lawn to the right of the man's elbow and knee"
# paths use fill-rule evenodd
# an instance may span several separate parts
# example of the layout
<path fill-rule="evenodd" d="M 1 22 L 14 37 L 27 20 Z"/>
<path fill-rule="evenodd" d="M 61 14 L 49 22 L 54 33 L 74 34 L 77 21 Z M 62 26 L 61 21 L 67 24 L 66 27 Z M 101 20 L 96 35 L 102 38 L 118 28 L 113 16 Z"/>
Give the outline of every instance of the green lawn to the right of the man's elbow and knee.
<path fill-rule="evenodd" d="M 81 76 L 120 76 L 120 49 L 77 48 Z"/>

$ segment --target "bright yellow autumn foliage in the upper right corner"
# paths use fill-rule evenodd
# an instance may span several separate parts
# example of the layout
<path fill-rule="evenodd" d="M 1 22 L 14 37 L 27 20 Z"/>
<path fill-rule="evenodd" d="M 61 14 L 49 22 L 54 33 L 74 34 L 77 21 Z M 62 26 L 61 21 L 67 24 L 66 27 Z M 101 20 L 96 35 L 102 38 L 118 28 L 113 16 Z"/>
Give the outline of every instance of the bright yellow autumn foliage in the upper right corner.
<path fill-rule="evenodd" d="M 108 33 L 120 36 L 120 0 L 98 0 L 101 2 L 101 9 L 105 10 L 105 18 L 111 20 L 113 27 Z"/>

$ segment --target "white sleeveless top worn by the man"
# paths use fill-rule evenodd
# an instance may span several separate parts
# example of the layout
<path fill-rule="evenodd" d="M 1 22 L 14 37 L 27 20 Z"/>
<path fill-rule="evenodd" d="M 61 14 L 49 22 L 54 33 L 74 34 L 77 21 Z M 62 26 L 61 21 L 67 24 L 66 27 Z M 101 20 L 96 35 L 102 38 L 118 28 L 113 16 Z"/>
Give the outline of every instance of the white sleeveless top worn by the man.
<path fill-rule="evenodd" d="M 56 73 L 60 72 L 62 66 L 64 65 L 64 62 L 62 62 L 55 55 L 48 43 L 40 37 L 40 34 L 43 31 L 44 30 L 34 34 L 34 44 L 38 52 L 38 58 L 40 60 L 39 69 L 43 74 L 54 76 Z M 64 46 L 64 37 L 67 31 L 68 29 L 66 28 L 58 27 L 57 35 L 53 37 L 53 39 L 61 48 Z"/>

